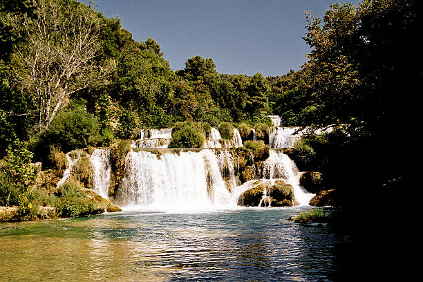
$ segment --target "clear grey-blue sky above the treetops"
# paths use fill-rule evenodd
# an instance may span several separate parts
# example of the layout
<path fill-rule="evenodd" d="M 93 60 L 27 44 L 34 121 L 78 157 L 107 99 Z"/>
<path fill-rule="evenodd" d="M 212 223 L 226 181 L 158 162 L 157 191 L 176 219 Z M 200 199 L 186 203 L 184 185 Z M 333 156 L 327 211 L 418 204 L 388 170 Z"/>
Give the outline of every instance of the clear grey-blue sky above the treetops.
<path fill-rule="evenodd" d="M 88 1 L 81 0 L 84 3 Z M 322 17 L 331 3 L 355 0 L 96 0 L 136 41 L 155 39 L 176 71 L 190 57 L 212 58 L 219 73 L 283 75 L 310 52 L 304 11 Z"/>

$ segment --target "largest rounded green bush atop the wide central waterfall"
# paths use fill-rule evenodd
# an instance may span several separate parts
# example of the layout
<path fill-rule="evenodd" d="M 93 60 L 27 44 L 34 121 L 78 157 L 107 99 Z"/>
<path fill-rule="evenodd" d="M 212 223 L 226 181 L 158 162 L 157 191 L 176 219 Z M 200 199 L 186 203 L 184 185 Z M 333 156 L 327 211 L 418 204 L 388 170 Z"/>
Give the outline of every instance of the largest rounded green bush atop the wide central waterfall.
<path fill-rule="evenodd" d="M 198 132 L 189 124 L 183 124 L 172 132 L 169 148 L 201 148 L 204 142 L 204 133 Z"/>

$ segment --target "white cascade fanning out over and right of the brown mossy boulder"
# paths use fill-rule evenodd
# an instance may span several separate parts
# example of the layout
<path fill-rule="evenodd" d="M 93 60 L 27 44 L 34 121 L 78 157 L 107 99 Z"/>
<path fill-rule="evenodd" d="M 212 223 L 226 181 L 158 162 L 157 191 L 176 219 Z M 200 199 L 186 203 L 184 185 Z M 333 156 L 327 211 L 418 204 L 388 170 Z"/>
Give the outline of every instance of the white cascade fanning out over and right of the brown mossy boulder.
<path fill-rule="evenodd" d="M 308 205 L 314 196 L 314 194 L 308 193 L 299 185 L 301 173 L 294 161 L 283 152 L 276 153 L 276 151 L 270 150 L 270 156 L 263 162 L 259 175 L 260 178 L 270 180 L 282 179 L 292 185 L 294 197 L 299 202 L 299 205 Z"/>

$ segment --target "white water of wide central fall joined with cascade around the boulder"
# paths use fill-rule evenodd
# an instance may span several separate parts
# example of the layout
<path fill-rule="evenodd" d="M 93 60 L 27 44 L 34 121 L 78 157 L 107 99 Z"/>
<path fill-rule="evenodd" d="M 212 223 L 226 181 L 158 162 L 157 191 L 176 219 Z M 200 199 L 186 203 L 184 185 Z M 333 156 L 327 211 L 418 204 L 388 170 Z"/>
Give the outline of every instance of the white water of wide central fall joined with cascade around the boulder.
<path fill-rule="evenodd" d="M 115 201 L 127 209 L 235 208 L 239 196 L 256 183 L 250 180 L 240 185 L 237 165 L 228 150 L 163 153 L 160 158 L 147 151 L 131 151 Z M 271 150 L 258 175 L 272 184 L 282 179 L 292 185 L 299 205 L 308 205 L 314 196 L 299 186 L 300 173 L 283 153 Z"/>

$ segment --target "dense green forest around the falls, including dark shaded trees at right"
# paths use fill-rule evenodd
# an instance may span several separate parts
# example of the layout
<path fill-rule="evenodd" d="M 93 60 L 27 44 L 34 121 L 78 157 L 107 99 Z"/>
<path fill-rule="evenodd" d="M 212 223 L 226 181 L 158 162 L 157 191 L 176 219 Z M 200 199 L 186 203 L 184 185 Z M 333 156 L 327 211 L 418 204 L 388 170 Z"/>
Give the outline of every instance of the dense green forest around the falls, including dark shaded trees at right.
<path fill-rule="evenodd" d="M 1 205 L 25 202 L 30 163 L 53 167 L 57 152 L 178 122 L 271 124 L 267 115 L 283 126 L 335 129 L 294 149 L 304 170 L 337 188 L 337 205 L 352 218 L 369 203 L 378 213 L 404 185 L 405 156 L 392 159 L 404 137 L 393 129 L 411 122 L 407 104 L 422 79 L 421 1 L 307 13 L 308 61 L 278 77 L 218 73 L 212 58 L 196 55 L 173 71 L 156 40 L 135 41 L 120 19 L 76 0 L 2 0 L 0 12 Z"/>

